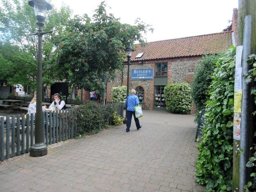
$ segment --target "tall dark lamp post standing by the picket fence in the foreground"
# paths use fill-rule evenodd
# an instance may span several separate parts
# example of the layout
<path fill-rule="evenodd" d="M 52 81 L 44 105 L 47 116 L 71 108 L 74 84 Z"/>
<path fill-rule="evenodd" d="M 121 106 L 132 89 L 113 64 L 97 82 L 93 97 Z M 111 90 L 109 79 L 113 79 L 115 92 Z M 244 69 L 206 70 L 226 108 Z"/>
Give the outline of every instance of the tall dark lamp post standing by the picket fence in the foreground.
<path fill-rule="evenodd" d="M 42 36 L 49 32 L 43 32 L 46 11 L 52 6 L 46 0 L 31 0 L 28 2 L 35 10 L 36 24 L 38 32 L 30 35 L 38 36 L 38 54 L 37 54 L 37 78 L 36 78 L 36 124 L 35 124 L 35 144 L 30 147 L 30 156 L 38 157 L 47 154 L 47 146 L 44 143 L 43 134 L 43 116 L 42 116 Z"/>

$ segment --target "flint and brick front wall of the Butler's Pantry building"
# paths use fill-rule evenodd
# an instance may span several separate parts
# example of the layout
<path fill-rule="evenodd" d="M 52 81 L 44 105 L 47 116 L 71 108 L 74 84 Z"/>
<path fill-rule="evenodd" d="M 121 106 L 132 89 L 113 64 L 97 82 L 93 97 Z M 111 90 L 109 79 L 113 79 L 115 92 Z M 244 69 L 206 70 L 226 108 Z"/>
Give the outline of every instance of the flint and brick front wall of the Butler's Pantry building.
<path fill-rule="evenodd" d="M 163 60 L 143 61 L 142 63 L 131 63 L 130 73 L 132 69 L 147 69 L 153 68 L 155 72 L 155 63 L 168 63 L 168 84 L 177 82 L 190 83 L 194 77 L 195 67 L 199 64 L 201 56 L 190 58 L 172 58 Z M 127 65 L 124 65 L 123 73 L 116 72 L 114 80 L 107 84 L 107 101 L 111 101 L 111 90 L 114 86 L 127 85 Z M 154 80 L 131 80 L 130 74 L 130 89 L 136 89 L 138 86 L 144 88 L 144 104 L 143 109 L 153 109 L 154 103 Z"/>

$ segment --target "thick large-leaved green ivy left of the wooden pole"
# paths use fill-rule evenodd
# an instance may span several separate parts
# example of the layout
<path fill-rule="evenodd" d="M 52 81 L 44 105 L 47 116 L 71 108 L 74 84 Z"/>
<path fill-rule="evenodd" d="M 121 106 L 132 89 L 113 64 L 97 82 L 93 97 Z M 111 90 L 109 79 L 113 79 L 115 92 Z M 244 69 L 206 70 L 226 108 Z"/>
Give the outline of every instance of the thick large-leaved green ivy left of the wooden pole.
<path fill-rule="evenodd" d="M 216 62 L 206 101 L 206 124 L 198 146 L 196 181 L 207 192 L 232 190 L 233 104 L 236 48 Z"/>

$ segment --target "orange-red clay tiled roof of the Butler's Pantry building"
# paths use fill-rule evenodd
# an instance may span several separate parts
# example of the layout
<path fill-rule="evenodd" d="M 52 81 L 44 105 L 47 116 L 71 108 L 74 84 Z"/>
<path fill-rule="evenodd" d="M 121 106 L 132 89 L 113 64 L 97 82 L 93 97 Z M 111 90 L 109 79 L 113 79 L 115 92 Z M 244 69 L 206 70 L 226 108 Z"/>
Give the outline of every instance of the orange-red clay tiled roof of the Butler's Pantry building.
<path fill-rule="evenodd" d="M 219 53 L 227 50 L 233 44 L 232 32 L 233 31 L 226 31 L 200 36 L 148 42 L 144 47 L 142 47 L 141 44 L 135 44 L 134 48 L 136 51 L 132 53 L 131 61 L 189 57 Z M 144 53 L 144 55 L 142 58 L 135 59 L 139 53 Z"/>

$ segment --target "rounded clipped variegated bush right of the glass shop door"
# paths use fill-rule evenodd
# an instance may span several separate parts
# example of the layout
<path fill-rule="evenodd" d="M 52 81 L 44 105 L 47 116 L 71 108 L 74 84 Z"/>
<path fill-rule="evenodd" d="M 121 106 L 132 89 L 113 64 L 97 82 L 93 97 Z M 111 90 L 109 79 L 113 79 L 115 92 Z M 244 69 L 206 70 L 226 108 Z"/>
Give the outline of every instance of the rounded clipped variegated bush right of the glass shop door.
<path fill-rule="evenodd" d="M 192 107 L 190 86 L 187 83 L 171 83 L 164 87 L 167 110 L 178 114 L 189 114 Z"/>

